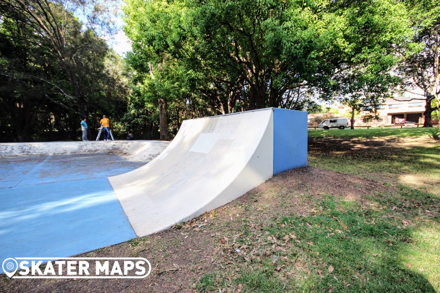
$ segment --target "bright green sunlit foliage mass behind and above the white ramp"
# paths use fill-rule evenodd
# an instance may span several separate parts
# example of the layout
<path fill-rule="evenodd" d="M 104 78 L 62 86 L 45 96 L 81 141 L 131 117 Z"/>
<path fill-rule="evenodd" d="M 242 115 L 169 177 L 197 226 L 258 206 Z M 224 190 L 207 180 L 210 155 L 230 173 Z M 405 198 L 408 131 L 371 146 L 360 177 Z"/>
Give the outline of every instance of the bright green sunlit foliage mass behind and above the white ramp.
<path fill-rule="evenodd" d="M 272 106 L 317 112 L 317 92 L 374 116 L 398 81 L 393 44 L 409 27 L 393 0 L 130 0 L 124 12 L 135 83 L 150 103 L 166 99 L 174 122 Z"/>

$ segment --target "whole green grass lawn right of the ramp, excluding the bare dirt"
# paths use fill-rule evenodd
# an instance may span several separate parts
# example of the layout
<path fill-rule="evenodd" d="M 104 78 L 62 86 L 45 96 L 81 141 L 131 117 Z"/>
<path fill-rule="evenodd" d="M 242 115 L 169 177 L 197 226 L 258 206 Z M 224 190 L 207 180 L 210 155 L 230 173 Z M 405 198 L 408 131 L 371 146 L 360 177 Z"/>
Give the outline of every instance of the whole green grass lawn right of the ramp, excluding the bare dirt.
<path fill-rule="evenodd" d="M 240 259 L 229 252 L 228 266 L 205 274 L 198 288 L 439 292 L 438 129 L 310 130 L 309 136 L 310 166 L 365 178 L 367 184 L 354 183 L 353 197 L 334 186 L 338 178 L 323 173 L 315 180 L 328 181 L 326 192 L 306 188 L 295 197 L 297 204 L 307 202 L 309 214 L 274 214 L 272 221 L 259 222 L 259 232 L 246 229 L 243 220 L 236 244 L 251 255 Z M 291 196 L 289 183 L 277 187 L 265 196 Z"/>

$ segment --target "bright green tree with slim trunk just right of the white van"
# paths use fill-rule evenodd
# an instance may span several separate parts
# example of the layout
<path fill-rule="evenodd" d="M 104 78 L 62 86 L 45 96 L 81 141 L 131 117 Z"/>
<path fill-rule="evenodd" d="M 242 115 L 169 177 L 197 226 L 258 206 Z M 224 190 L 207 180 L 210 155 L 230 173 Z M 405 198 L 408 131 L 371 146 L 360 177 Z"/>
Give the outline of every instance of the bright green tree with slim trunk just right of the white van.
<path fill-rule="evenodd" d="M 325 55 L 334 73 L 321 85 L 321 97 L 349 106 L 353 129 L 355 113 L 367 112 L 364 121 L 377 119 L 377 109 L 399 83 L 392 72 L 396 44 L 410 36 L 409 21 L 405 7 L 395 1 L 335 2 L 334 11 L 341 31 L 338 45 Z"/>

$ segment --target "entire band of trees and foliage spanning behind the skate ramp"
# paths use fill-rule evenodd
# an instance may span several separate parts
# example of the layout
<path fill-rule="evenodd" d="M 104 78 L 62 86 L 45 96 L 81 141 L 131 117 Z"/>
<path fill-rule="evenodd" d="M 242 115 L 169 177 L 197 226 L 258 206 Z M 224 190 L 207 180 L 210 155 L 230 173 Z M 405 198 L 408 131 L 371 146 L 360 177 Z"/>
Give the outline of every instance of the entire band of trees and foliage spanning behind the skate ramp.
<path fill-rule="evenodd" d="M 121 135 L 169 139 L 184 119 L 319 100 L 375 119 L 405 82 L 426 126 L 438 111 L 433 0 L 127 0 L 125 58 L 105 42 L 117 5 L 0 2 L 2 140 L 76 139 L 103 113 Z"/>

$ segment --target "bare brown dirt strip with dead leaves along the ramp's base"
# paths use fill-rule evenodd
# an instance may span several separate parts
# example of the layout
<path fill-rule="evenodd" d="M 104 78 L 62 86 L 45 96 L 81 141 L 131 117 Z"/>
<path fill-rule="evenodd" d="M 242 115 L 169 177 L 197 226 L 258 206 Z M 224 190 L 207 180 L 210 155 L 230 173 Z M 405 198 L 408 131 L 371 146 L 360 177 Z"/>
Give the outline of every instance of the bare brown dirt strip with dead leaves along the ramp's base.
<path fill-rule="evenodd" d="M 294 169 L 237 200 L 189 222 L 144 238 L 102 248 L 78 257 L 145 257 L 152 265 L 144 279 L 9 279 L 5 292 L 196 292 L 196 283 L 212 270 L 224 269 L 225 248 L 237 249 L 243 230 L 264 234 L 267 223 L 287 215 L 310 215 L 313 198 L 323 194 L 363 201 L 389 188 L 373 180 L 314 167 Z"/>

